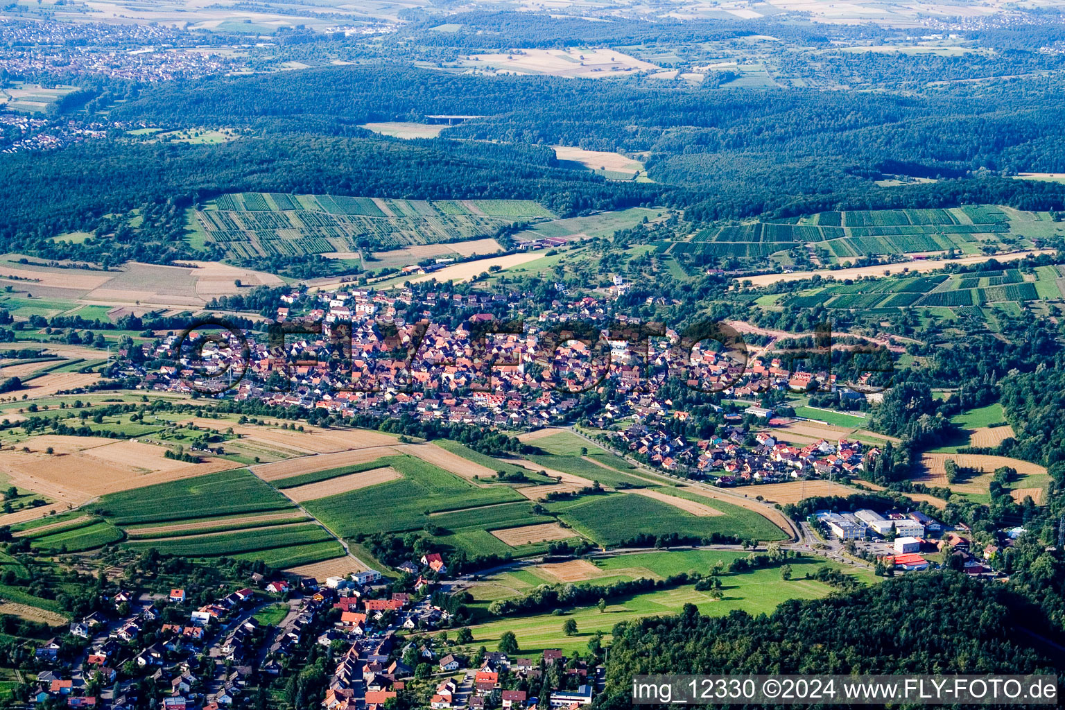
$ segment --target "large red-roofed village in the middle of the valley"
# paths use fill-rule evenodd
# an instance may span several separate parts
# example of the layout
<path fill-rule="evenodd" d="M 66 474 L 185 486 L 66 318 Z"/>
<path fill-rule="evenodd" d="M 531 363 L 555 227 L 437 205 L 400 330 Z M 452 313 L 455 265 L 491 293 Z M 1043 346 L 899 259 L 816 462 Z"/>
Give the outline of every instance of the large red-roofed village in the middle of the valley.
<path fill-rule="evenodd" d="M 623 280 L 616 280 L 612 295 L 625 287 Z M 301 301 L 298 293 L 281 298 L 292 304 Z M 231 380 L 233 369 L 246 368 L 247 376 L 231 393 L 239 401 L 258 399 L 345 417 L 407 415 L 505 430 L 567 423 L 581 393 L 608 379 L 616 396 L 588 415 L 589 426 L 607 430 L 611 446 L 642 463 L 722 486 L 800 478 L 847 480 L 880 455 L 875 446 L 846 439 L 788 444 L 773 429 L 793 418 L 760 406 L 761 398 L 786 393 L 833 392 L 872 400 L 879 395 L 849 390 L 831 373 L 791 368 L 772 351 L 746 363 L 715 351 L 714 343 L 697 343 L 690 352 L 678 353 L 671 346 L 671 340 L 678 339 L 675 332 L 663 329 L 662 337 L 646 337 L 639 319 L 612 317 L 606 298 L 556 301 L 551 310 L 532 314 L 522 312 L 517 294 L 350 288 L 318 293 L 305 306 L 299 314 L 296 306 L 278 309 L 277 324 L 291 332 L 281 346 L 249 342 L 248 363 L 230 360 L 237 352 L 234 348 L 200 348 L 195 353 L 199 360 L 190 360 L 184 348 L 175 352 L 181 344 L 174 335 L 146 356 L 166 363 L 177 356 L 183 367 L 164 364 L 158 371 L 138 371 L 130 365 L 130 374 L 143 376 L 145 385 L 154 390 L 191 393 L 212 386 L 218 374 Z M 450 329 L 435 320 L 442 306 L 463 313 L 481 311 Z M 524 330 L 484 334 L 499 324 L 496 315 L 484 311 L 502 309 L 524 317 Z M 410 312 L 421 323 L 410 321 Z M 610 324 L 615 331 L 605 332 L 600 342 L 589 342 L 585 334 L 581 342 L 574 340 L 581 327 L 577 324 Z M 381 326 L 394 328 L 393 333 L 383 334 Z M 314 329 L 320 332 L 308 332 Z M 407 360 L 394 358 L 399 348 L 408 351 Z M 687 362 L 678 362 L 684 356 Z M 721 404 L 712 408 L 722 426 L 714 439 L 691 442 L 674 432 L 674 423 L 684 422 L 688 413 L 658 390 L 675 373 L 720 393 Z M 276 385 L 278 376 L 285 386 L 272 389 L 267 383 Z"/>

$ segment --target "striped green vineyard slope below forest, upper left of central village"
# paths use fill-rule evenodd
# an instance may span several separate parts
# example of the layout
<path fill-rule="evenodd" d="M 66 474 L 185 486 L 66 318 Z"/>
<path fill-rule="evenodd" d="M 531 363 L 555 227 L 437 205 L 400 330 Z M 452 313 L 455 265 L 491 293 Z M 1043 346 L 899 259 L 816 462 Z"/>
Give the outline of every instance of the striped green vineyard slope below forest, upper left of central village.
<path fill-rule="evenodd" d="M 489 237 L 513 221 L 554 216 L 526 200 L 425 201 L 281 193 L 223 195 L 195 213 L 207 244 L 219 245 L 231 259 L 310 253 L 354 257 L 364 247 L 388 252 Z"/>

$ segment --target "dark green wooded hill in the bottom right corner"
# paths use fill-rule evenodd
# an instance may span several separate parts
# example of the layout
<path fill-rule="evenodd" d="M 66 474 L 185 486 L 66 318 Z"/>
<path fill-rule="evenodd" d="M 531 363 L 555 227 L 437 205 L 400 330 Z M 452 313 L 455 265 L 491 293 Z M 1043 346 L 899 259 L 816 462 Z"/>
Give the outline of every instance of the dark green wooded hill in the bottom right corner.
<path fill-rule="evenodd" d="M 768 616 L 701 616 L 688 605 L 615 627 L 600 707 L 632 707 L 637 674 L 1055 673 L 1060 660 L 1033 640 L 1045 624 L 1005 585 L 951 572 L 785 601 Z"/>

